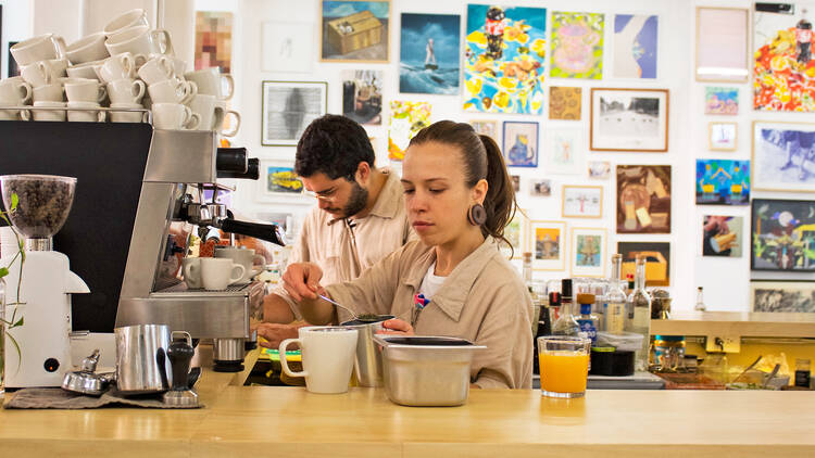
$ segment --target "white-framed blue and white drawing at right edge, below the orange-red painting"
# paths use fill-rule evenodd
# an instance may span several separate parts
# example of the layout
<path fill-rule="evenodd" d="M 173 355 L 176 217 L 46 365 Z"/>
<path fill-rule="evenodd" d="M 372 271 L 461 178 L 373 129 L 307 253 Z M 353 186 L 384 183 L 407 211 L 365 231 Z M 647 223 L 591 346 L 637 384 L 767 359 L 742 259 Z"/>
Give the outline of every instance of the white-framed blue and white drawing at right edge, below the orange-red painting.
<path fill-rule="evenodd" d="M 753 186 L 815 192 L 815 125 L 753 122 Z"/>

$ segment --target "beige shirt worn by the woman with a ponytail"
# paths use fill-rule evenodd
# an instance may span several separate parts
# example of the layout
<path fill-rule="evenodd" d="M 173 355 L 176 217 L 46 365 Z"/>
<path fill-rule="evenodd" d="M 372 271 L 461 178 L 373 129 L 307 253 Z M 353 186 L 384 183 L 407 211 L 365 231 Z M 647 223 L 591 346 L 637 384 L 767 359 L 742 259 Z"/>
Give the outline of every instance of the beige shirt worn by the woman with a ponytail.
<path fill-rule="evenodd" d="M 487 346 L 471 367 L 471 381 L 480 387 L 531 387 L 531 298 L 496 240 L 488 237 L 464 258 L 414 321 L 413 297 L 434 262 L 434 249 L 411 242 L 356 280 L 326 290 L 358 314 L 390 314 L 413 322 L 418 335 L 455 336 Z"/>

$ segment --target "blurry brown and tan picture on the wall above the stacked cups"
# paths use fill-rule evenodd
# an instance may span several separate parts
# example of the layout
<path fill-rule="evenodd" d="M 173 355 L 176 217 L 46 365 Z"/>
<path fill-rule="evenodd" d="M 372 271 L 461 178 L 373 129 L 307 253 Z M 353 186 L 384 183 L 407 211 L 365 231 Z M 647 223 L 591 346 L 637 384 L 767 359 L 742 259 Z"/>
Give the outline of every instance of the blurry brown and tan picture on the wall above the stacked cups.
<path fill-rule="evenodd" d="M 233 13 L 196 12 L 196 69 L 220 67 L 231 73 Z"/>

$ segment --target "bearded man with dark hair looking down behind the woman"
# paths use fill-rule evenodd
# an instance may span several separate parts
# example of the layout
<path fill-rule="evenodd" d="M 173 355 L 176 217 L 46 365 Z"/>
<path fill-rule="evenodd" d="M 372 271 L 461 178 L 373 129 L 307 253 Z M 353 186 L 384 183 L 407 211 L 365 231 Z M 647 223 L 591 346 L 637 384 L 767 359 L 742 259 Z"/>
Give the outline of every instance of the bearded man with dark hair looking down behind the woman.
<path fill-rule="evenodd" d="M 416 236 L 408 222 L 396 174 L 374 166 L 365 129 L 337 115 L 315 119 L 297 145 L 294 170 L 317 206 L 305 217 L 289 264 L 315 263 L 325 284 L 353 280 Z M 265 297 L 258 335 L 276 348 L 296 338 L 301 320 L 283 287 Z"/>

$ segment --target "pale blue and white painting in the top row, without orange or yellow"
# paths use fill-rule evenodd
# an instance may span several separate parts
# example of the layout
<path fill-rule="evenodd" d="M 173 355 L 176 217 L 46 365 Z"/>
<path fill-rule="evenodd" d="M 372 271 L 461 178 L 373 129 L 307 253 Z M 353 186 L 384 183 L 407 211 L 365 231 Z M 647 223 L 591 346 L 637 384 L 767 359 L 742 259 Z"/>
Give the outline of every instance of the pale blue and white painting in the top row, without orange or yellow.
<path fill-rule="evenodd" d="M 615 78 L 656 78 L 659 18 L 654 15 L 616 14 L 614 16 Z"/>

